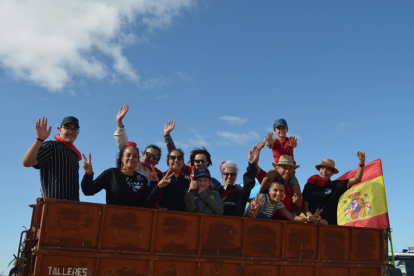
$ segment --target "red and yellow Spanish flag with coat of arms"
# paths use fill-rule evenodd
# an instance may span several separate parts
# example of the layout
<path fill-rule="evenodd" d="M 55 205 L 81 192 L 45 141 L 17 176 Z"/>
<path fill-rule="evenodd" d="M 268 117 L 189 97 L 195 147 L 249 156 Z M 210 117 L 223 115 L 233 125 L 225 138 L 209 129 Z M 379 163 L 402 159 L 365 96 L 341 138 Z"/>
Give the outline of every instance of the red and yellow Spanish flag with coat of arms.
<path fill-rule="evenodd" d="M 337 180 L 353 178 L 356 169 Z M 361 183 L 352 186 L 339 199 L 338 225 L 390 228 L 381 159 L 365 164 Z"/>

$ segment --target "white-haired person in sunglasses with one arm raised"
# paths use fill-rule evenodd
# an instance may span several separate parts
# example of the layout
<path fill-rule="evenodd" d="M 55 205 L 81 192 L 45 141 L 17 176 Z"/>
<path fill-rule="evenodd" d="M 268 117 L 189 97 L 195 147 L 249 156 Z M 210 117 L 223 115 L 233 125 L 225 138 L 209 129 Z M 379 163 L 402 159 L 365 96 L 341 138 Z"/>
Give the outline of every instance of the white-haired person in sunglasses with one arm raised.
<path fill-rule="evenodd" d="M 224 186 L 220 186 L 218 192 L 224 205 L 223 215 L 242 217 L 249 200 L 250 192 L 255 185 L 256 166 L 259 158 L 259 149 L 254 146 L 249 150 L 249 165 L 243 175 L 243 187 L 237 188 L 234 183 L 237 179 L 238 168 L 232 161 L 225 161 L 220 166 Z"/>

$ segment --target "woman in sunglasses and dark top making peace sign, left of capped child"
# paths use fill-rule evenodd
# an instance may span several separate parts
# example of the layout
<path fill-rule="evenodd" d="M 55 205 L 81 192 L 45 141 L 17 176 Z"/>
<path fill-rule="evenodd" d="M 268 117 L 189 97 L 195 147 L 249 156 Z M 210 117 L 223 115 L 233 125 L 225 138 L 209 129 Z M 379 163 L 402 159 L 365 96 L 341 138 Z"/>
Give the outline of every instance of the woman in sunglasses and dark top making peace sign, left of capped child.
<path fill-rule="evenodd" d="M 190 187 L 190 173 L 184 165 L 184 152 L 175 149 L 168 153 L 167 164 L 170 169 L 164 178 L 151 191 L 151 200 L 158 199 L 162 209 L 185 211 L 184 197 Z"/>

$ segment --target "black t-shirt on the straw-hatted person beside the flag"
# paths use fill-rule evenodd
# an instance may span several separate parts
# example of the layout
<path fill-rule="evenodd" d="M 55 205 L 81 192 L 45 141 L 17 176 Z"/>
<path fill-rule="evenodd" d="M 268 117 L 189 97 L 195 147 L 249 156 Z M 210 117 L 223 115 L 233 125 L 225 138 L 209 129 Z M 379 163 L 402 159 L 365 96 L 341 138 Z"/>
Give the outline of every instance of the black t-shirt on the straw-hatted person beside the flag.
<path fill-rule="evenodd" d="M 331 225 L 338 225 L 337 209 L 339 198 L 348 190 L 348 180 L 329 181 L 323 186 L 316 186 L 316 181 L 306 183 L 303 200 L 309 203 L 309 211 L 315 213 L 323 209 L 320 216 Z"/>

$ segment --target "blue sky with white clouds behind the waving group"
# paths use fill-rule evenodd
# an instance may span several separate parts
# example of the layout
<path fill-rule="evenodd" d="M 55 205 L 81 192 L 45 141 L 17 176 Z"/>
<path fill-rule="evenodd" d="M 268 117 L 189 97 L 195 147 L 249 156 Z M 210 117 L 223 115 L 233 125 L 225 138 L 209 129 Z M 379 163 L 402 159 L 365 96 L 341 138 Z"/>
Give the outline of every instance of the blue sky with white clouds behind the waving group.
<path fill-rule="evenodd" d="M 248 150 L 278 118 L 299 137 L 302 188 L 324 158 L 340 174 L 357 168 L 358 150 L 367 162 L 382 159 L 394 249 L 414 245 L 405 212 L 414 192 L 414 3 L 71 2 L 0 1 L 0 274 L 39 196 L 38 171 L 21 164 L 36 120 L 46 116 L 56 134 L 63 117 L 76 116 L 75 145 L 92 153 L 98 175 L 115 164 L 115 117 L 126 103 L 129 140 L 142 150 L 162 145 L 165 122 L 175 120 L 186 160 L 205 146 L 217 179 L 224 160 L 244 172 Z M 165 156 L 163 147 L 161 170 Z M 260 165 L 271 161 L 265 148 Z M 105 193 L 81 200 L 104 203 Z"/>

